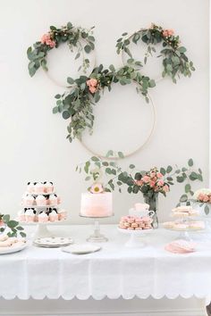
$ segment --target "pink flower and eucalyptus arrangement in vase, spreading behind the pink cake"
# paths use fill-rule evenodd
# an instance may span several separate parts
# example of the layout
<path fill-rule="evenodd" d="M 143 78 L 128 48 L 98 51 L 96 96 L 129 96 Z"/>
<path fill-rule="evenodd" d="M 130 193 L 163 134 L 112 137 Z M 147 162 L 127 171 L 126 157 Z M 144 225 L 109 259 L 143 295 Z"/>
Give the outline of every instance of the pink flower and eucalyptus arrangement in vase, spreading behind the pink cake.
<path fill-rule="evenodd" d="M 119 152 L 119 158 L 123 158 L 123 154 Z M 92 179 L 95 184 L 102 182 L 106 178 L 104 190 L 105 192 L 114 191 L 118 187 L 119 192 L 122 192 L 122 186 L 127 186 L 129 194 L 142 193 L 145 203 L 149 204 L 149 209 L 155 212 L 154 227 L 158 225 L 157 210 L 158 210 L 158 195 L 165 195 L 170 191 L 175 183 L 184 184 L 184 194 L 181 195 L 179 206 L 181 203 L 190 205 L 190 200 L 194 195 L 190 181 L 203 181 L 202 170 L 193 168 L 193 160 L 190 158 L 187 166 L 179 168 L 168 165 L 166 168 L 153 167 L 150 170 L 137 170 L 134 164 L 130 164 L 128 170 L 122 170 L 116 160 L 111 161 L 111 156 L 116 158 L 113 151 L 109 151 L 106 155 L 108 160 L 103 160 L 100 156 L 92 156 L 89 161 L 77 166 L 76 170 L 86 173 L 86 181 Z M 89 187 L 90 191 L 92 187 Z"/>

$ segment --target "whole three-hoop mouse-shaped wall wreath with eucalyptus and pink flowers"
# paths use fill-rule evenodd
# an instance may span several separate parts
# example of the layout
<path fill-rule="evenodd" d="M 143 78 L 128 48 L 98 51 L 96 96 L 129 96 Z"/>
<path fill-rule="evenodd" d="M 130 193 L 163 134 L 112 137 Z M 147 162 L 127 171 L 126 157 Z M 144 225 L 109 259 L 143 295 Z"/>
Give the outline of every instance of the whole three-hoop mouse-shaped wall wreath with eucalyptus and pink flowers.
<path fill-rule="evenodd" d="M 75 59 L 82 54 L 83 61 L 78 71 L 81 69 L 84 72 L 87 71 L 90 64 L 89 59 L 84 57 L 84 53 L 89 54 L 95 49 L 95 37 L 92 34 L 92 29 L 74 27 L 71 22 L 61 28 L 51 26 L 40 41 L 33 44 L 33 48 L 28 48 L 30 77 L 33 77 L 40 67 L 44 71 L 48 71 L 47 54 L 52 49 L 58 48 L 62 43 L 66 43 L 71 49 L 73 47 L 77 48 Z M 122 33 L 122 37 L 116 43 L 117 54 L 122 55 L 123 66 L 121 68 L 116 70 L 112 64 L 108 69 L 104 69 L 104 66 L 100 64 L 90 71 L 89 76 L 80 75 L 77 79 L 69 77 L 67 78 L 68 90 L 62 95 L 57 94 L 55 96 L 56 104 L 53 113 L 61 113 L 63 119 L 69 121 L 67 139 L 72 142 L 74 138 L 78 138 L 82 146 L 89 150 L 91 154 L 105 157 L 95 153 L 89 146 L 85 145 L 82 141 L 82 135 L 86 129 L 89 129 L 89 134 L 92 133 L 95 121 L 94 106 L 105 89 L 111 91 L 114 83 L 119 83 L 122 86 L 135 83 L 137 93 L 145 97 L 146 102 L 151 104 L 153 111 L 152 127 L 145 142 L 135 151 L 125 154 L 124 157 L 136 154 L 146 146 L 155 129 L 156 108 L 148 95 L 148 89 L 156 87 L 156 80 L 141 74 L 143 64 L 132 57 L 131 41 L 136 45 L 143 42 L 148 46 L 144 56 L 145 64 L 148 61 L 148 56 L 156 53 L 156 44 L 162 44 L 163 49 L 158 56 L 163 58 L 162 78 L 170 77 L 173 83 L 176 83 L 176 78 L 180 78 L 181 75 L 190 77 L 191 71 L 195 71 L 193 62 L 190 62 L 185 54 L 186 48 L 181 46 L 180 37 L 174 35 L 173 29 L 163 29 L 156 26 L 156 24 L 151 24 L 148 29 L 139 29 L 131 35 L 126 32 Z M 123 61 L 123 54 L 128 54 L 130 57 L 127 63 Z M 55 84 L 57 83 L 55 82 Z"/>

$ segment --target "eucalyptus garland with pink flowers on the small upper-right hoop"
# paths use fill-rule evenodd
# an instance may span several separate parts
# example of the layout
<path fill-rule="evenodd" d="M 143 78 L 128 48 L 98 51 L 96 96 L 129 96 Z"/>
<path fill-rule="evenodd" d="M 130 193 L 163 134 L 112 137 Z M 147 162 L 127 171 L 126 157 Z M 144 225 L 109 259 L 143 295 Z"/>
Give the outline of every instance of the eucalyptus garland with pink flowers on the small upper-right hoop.
<path fill-rule="evenodd" d="M 147 52 L 144 57 L 144 63 L 147 63 L 148 57 L 156 53 L 156 44 L 161 43 L 163 48 L 157 57 L 163 58 L 162 77 L 170 77 L 176 83 L 176 77 L 180 75 L 190 77 L 191 71 L 195 71 L 193 62 L 190 62 L 186 53 L 186 48 L 181 46 L 180 37 L 174 35 L 173 29 L 163 29 L 161 26 L 152 24 L 149 29 L 139 29 L 135 33 L 128 35 L 123 33 L 117 40 L 117 54 L 125 52 L 130 56 L 128 60 L 133 60 L 131 54 L 131 42 L 138 44 L 143 42 L 147 45 Z"/>

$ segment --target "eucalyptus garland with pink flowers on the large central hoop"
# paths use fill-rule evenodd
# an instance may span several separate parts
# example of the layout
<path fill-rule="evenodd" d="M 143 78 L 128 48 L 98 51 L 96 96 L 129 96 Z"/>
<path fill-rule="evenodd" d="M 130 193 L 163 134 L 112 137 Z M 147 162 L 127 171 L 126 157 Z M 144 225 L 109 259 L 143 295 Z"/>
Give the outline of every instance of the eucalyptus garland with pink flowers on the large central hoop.
<path fill-rule="evenodd" d="M 135 83 L 137 93 L 144 96 L 148 102 L 148 88 L 156 86 L 155 80 L 142 76 L 130 65 L 115 70 L 114 65 L 104 69 L 101 64 L 89 77 L 68 78 L 67 82 L 71 85 L 71 89 L 63 95 L 55 96 L 56 106 L 53 113 L 60 112 L 64 120 L 70 121 L 67 127 L 67 138 L 70 142 L 75 137 L 80 139 L 85 129 L 89 129 L 89 133 L 92 133 L 95 120 L 93 107 L 105 88 L 111 91 L 114 83 L 120 83 L 122 86 Z"/>

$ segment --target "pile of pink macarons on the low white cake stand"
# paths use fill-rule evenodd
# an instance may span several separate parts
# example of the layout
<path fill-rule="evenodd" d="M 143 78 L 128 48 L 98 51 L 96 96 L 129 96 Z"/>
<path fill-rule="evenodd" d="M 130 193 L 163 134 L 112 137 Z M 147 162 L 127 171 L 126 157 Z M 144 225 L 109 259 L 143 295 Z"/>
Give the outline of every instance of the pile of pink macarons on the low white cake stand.
<path fill-rule="evenodd" d="M 153 220 L 149 216 L 123 216 L 119 223 L 119 229 L 142 230 L 152 229 Z"/>

